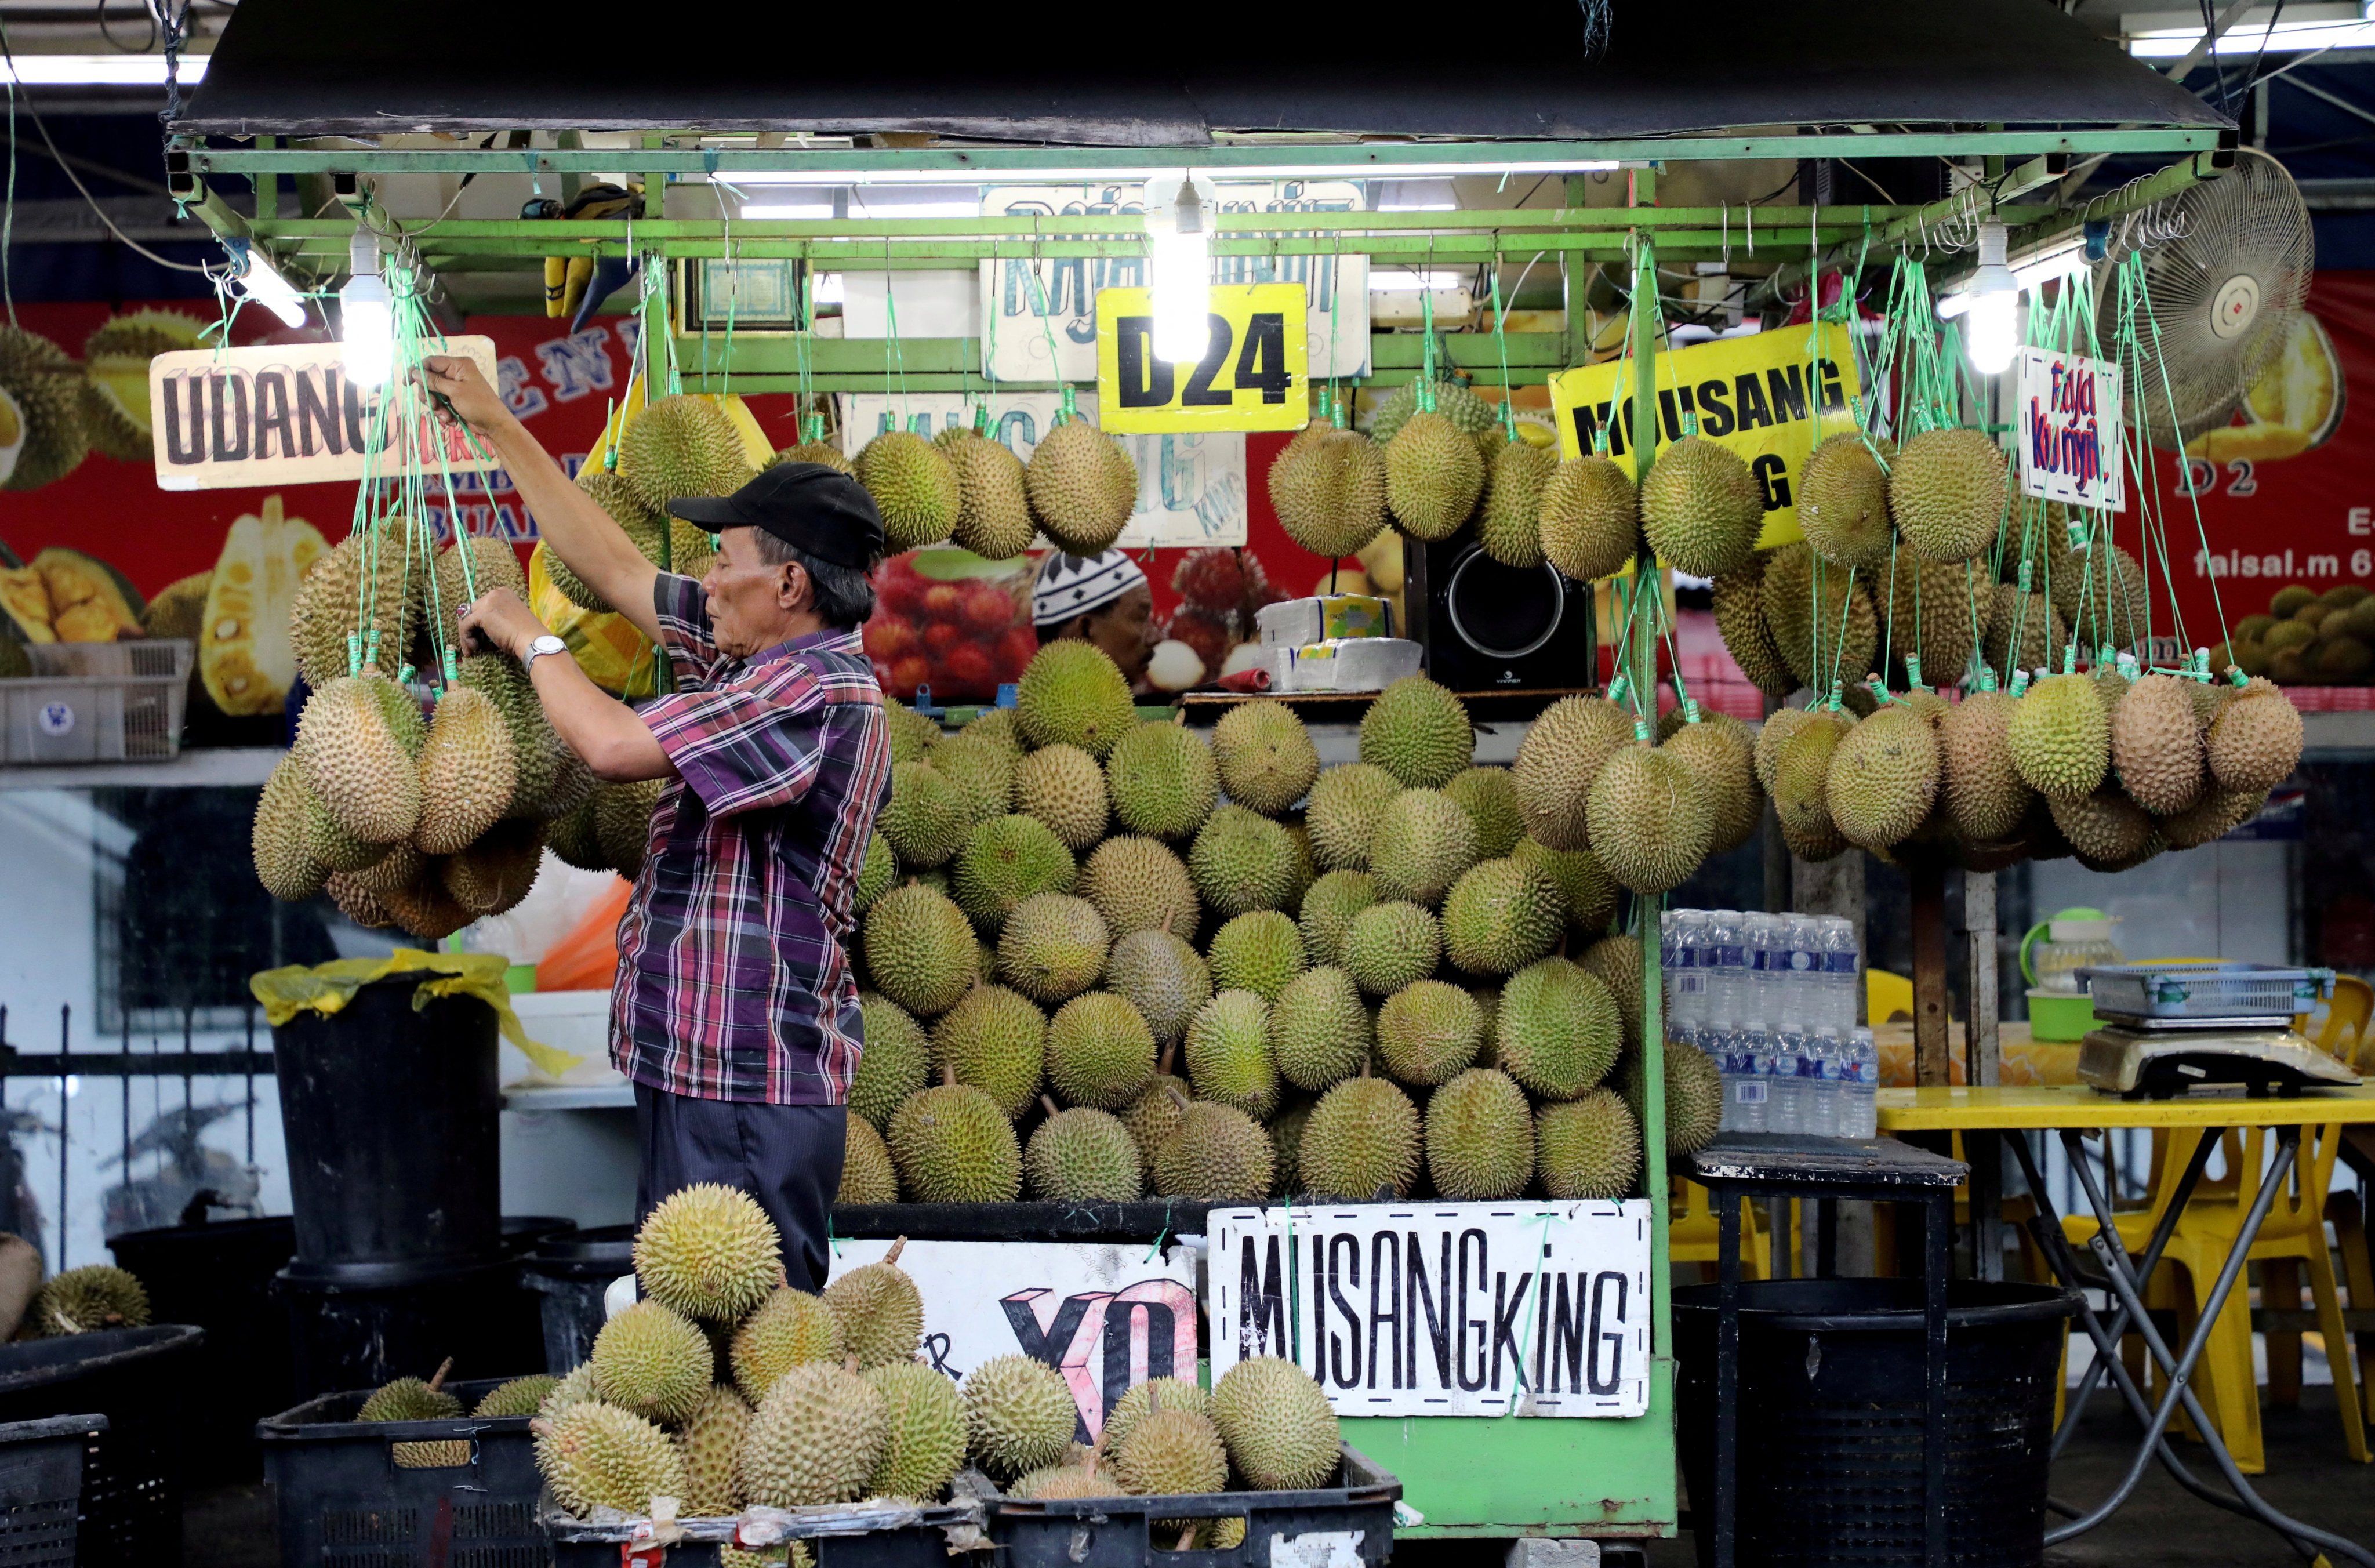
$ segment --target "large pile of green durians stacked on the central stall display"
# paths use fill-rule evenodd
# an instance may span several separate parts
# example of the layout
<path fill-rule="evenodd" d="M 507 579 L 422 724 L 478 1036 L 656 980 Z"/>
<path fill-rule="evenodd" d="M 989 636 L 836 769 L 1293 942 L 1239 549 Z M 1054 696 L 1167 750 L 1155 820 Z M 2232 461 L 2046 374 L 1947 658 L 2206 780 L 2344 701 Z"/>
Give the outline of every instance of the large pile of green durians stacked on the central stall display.
<path fill-rule="evenodd" d="M 1755 832 L 1736 720 L 1648 744 L 1565 698 L 1472 767 L 1461 701 L 1411 677 L 1323 772 L 1278 701 L 1140 722 L 1085 641 L 955 734 L 891 720 L 843 1202 L 1634 1193 L 1617 889 Z M 1670 1045 L 1672 1147 L 1717 1112 Z"/>

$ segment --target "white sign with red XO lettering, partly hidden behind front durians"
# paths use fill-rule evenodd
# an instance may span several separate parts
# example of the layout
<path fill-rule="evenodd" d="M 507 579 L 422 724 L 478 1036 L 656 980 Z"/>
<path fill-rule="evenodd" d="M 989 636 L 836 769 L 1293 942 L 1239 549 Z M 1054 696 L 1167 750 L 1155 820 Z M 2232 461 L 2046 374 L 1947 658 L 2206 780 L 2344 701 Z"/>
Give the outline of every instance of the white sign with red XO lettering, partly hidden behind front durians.
<path fill-rule="evenodd" d="M 881 1262 L 891 1243 L 834 1243 L 831 1278 Z M 924 1357 L 950 1378 L 1026 1354 L 1064 1373 L 1095 1442 L 1133 1383 L 1197 1376 L 1195 1252 L 1138 1245 L 912 1240 L 898 1266 L 924 1297 Z"/>

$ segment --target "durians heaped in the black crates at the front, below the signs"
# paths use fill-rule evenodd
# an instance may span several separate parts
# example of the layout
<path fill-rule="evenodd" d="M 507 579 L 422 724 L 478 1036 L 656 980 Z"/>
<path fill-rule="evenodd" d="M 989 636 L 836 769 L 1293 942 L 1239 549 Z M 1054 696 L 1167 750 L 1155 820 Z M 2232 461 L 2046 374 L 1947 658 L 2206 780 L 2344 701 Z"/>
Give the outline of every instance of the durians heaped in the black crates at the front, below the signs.
<path fill-rule="evenodd" d="M 694 1186 L 634 1240 L 644 1300 L 615 1314 L 584 1366 L 518 1378 L 477 1416 L 534 1416 L 537 1468 L 577 1518 L 684 1518 L 760 1504 L 936 1501 L 967 1463 L 1016 1497 L 1287 1490 L 1337 1473 L 1335 1411 L 1294 1364 L 1254 1359 L 1218 1387 L 1140 1383 L 1097 1433 L 1064 1376 L 1024 1354 L 964 1383 L 917 1359 L 924 1304 L 898 1266 L 850 1269 L 822 1295 L 781 1283 L 774 1224 L 743 1193 Z M 435 1380 L 378 1390 L 361 1421 L 435 1421 L 461 1402 Z M 399 1463 L 439 1463 L 435 1444 Z M 1242 1520 L 1237 1520 L 1242 1532 Z M 1240 1535 L 1242 1539 L 1242 1535 Z M 1216 1544 L 1235 1544 L 1218 1539 Z"/>

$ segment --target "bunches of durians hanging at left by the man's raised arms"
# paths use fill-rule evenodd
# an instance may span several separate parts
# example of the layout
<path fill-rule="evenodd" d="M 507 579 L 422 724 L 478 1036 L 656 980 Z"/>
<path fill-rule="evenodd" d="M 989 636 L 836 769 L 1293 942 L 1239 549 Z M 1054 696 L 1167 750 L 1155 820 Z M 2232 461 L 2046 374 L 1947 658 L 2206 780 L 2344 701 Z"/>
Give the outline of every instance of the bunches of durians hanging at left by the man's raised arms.
<path fill-rule="evenodd" d="M 577 482 L 653 563 L 665 520 L 670 570 L 698 577 L 710 535 L 665 518 L 667 499 L 729 494 L 750 475 L 712 402 L 665 397 L 625 428 L 615 470 L 587 468 Z M 549 546 L 537 549 L 563 594 L 608 608 Z M 299 582 L 290 641 L 314 694 L 254 824 L 256 877 L 276 898 L 328 891 L 356 924 L 435 941 L 518 905 L 546 848 L 582 870 L 641 870 L 656 779 L 598 782 L 508 653 L 463 653 L 456 679 L 442 679 L 475 594 L 527 596 L 511 544 L 473 537 L 468 551 L 466 570 L 461 546 L 437 549 L 425 527 L 390 516 Z M 366 651 L 354 675 L 349 639 Z M 420 689 L 397 679 L 406 665 L 425 672 L 428 713 Z"/>

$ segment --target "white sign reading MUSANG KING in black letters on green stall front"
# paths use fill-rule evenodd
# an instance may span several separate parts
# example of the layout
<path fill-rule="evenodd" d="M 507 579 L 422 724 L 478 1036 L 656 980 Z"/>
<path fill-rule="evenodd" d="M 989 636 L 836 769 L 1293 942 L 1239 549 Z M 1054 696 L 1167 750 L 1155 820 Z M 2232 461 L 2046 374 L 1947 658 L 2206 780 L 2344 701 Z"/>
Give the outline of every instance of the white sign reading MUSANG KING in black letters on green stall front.
<path fill-rule="evenodd" d="M 1651 1207 L 1214 1209 L 1211 1376 L 1287 1357 L 1340 1416 L 1648 1411 Z"/>

